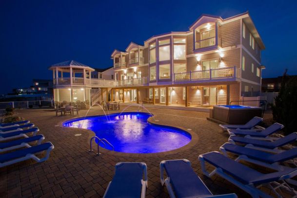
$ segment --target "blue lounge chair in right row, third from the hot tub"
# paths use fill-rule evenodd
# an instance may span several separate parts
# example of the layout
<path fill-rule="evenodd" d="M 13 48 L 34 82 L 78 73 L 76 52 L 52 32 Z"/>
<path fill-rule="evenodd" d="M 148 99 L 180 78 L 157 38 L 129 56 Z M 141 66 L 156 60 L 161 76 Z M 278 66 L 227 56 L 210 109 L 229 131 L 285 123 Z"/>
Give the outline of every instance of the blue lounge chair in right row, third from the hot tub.
<path fill-rule="evenodd" d="M 240 144 L 244 144 L 245 147 L 262 150 L 262 151 L 273 152 L 273 153 L 282 152 L 282 150 L 278 150 L 277 147 L 285 146 L 294 141 L 297 141 L 296 132 L 291 133 L 290 135 L 287 135 L 275 141 L 272 141 L 271 139 L 267 139 L 267 140 L 250 139 L 250 138 L 244 138 L 239 136 L 230 136 L 229 138 L 229 142 L 232 144 L 240 143 Z"/>

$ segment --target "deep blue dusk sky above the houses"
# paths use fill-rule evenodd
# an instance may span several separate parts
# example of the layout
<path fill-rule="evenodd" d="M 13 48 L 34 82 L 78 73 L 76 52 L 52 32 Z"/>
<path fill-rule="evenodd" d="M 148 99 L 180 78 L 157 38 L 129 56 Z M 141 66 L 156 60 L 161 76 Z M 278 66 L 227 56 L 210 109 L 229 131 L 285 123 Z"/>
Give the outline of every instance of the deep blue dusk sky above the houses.
<path fill-rule="evenodd" d="M 188 31 L 201 15 L 222 18 L 249 11 L 266 46 L 263 77 L 297 75 L 297 2 L 201 0 L 1 0 L 0 93 L 52 79 L 48 67 L 74 59 L 112 66 L 115 48 L 153 35 Z"/>

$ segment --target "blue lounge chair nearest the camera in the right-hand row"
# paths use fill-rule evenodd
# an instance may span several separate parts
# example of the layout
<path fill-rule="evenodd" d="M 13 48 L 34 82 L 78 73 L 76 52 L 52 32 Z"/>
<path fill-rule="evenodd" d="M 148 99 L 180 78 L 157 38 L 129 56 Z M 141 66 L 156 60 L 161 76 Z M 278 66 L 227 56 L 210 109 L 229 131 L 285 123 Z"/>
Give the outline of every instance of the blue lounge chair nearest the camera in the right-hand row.
<path fill-rule="evenodd" d="M 271 190 L 280 197 L 277 189 L 285 188 L 294 195 L 297 192 L 289 186 L 285 179 L 293 178 L 297 175 L 297 168 L 289 168 L 274 173 L 263 174 L 252 168 L 249 168 L 231 158 L 227 158 L 214 151 L 199 156 L 202 172 L 207 177 L 218 174 L 220 177 L 227 179 L 234 185 L 249 193 L 253 198 L 270 197 L 257 187 L 267 184 Z M 215 170 L 208 173 L 205 168 L 205 161 L 215 166 Z M 276 187 L 273 187 L 272 184 Z"/>

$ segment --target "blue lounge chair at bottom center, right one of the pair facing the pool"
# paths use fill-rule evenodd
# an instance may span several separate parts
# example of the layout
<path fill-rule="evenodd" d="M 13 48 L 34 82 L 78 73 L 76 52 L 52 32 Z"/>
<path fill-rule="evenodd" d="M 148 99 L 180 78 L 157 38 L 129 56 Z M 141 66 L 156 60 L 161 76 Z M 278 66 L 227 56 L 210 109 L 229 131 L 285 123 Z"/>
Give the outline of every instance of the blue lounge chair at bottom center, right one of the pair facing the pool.
<path fill-rule="evenodd" d="M 167 178 L 164 180 L 163 172 Z M 187 159 L 164 160 L 160 163 L 160 180 L 171 198 L 237 198 L 236 194 L 214 196 L 191 168 Z M 174 190 L 173 190 L 173 189 Z"/>

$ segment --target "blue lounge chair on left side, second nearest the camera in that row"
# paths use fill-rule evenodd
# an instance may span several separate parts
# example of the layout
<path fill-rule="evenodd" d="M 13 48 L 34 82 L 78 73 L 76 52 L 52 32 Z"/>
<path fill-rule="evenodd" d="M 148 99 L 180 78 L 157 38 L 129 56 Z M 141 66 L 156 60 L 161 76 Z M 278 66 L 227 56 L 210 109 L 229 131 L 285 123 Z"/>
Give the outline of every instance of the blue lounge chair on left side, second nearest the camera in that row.
<path fill-rule="evenodd" d="M 4 151 L 9 151 L 17 148 L 22 148 L 22 147 L 31 147 L 29 142 L 37 141 L 37 145 L 39 145 L 42 141 L 44 140 L 43 135 L 37 135 L 37 136 L 32 136 L 29 138 L 23 138 L 23 139 L 16 139 L 8 142 L 0 142 L 0 152 Z"/>

